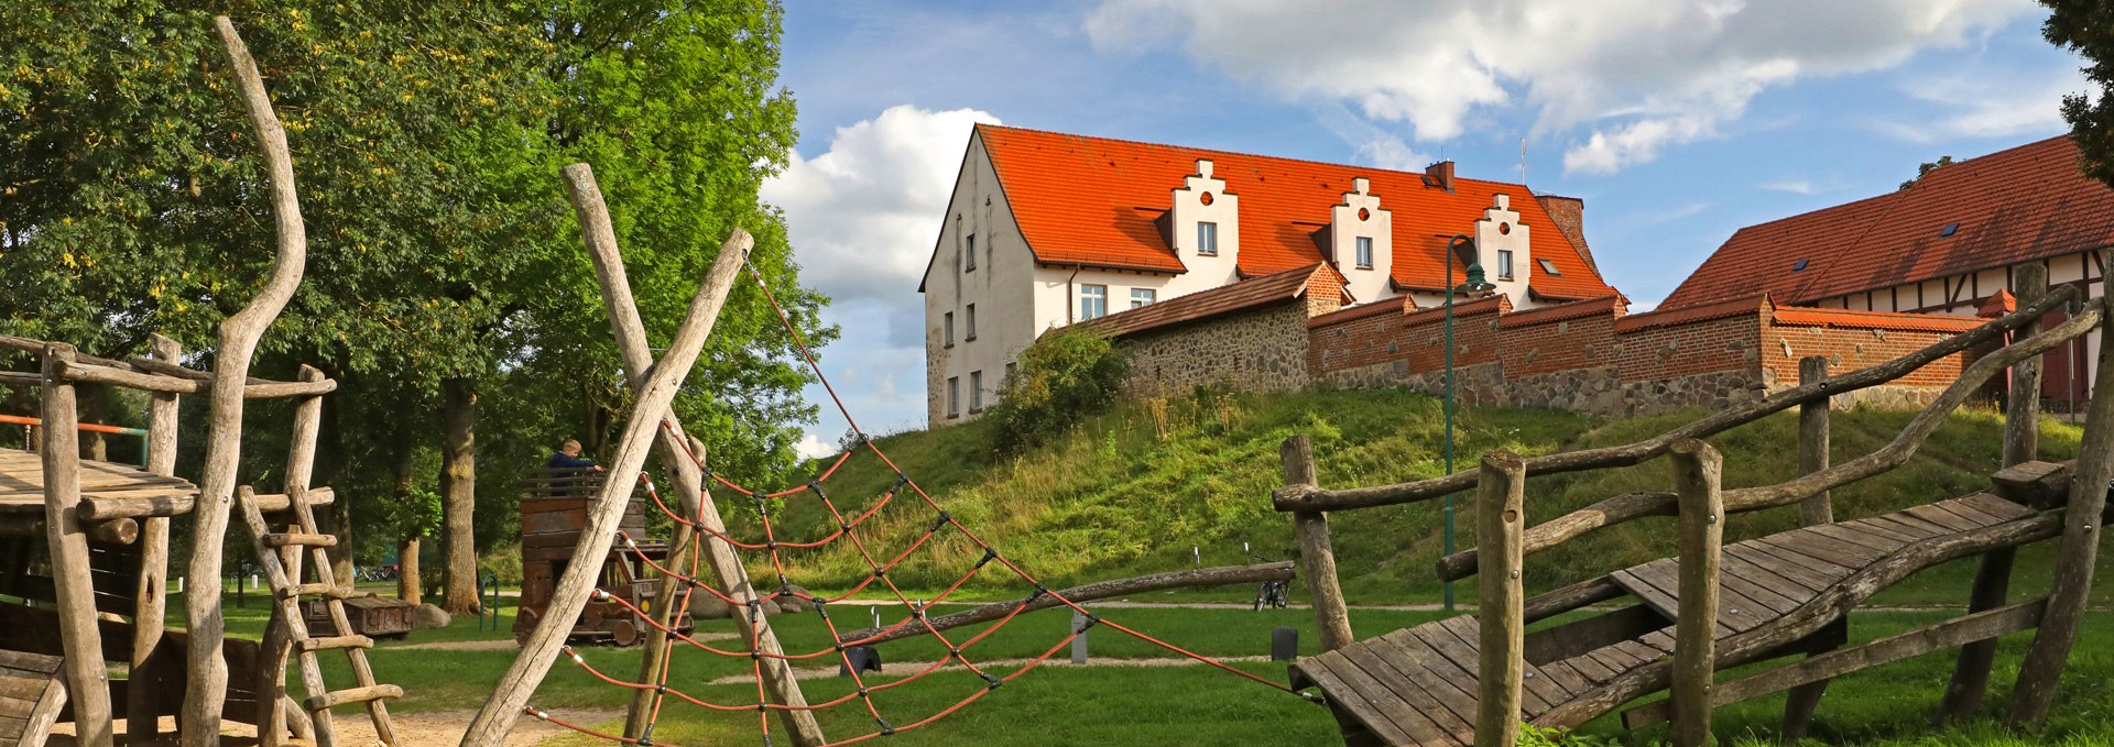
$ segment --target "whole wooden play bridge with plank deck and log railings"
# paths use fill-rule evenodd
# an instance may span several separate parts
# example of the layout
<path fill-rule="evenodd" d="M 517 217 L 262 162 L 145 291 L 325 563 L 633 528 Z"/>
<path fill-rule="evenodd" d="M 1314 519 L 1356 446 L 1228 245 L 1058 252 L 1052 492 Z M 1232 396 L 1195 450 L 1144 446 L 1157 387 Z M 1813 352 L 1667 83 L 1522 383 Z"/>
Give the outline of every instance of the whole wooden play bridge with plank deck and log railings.
<path fill-rule="evenodd" d="M 1285 441 L 1285 487 L 1273 496 L 1292 513 L 1325 652 L 1296 660 L 1294 688 L 1319 688 L 1349 745 L 1503 745 L 1520 724 L 1571 728 L 1653 692 L 1668 698 L 1630 707 L 1624 724 L 1672 722 L 1674 745 L 1710 741 L 1710 709 L 1791 690 L 1784 739 L 1799 739 L 1833 677 L 1945 648 L 1960 648 L 1941 717 L 1974 713 L 1989 682 L 1996 637 L 2036 629 L 2008 715 L 2040 722 L 2078 633 L 2114 473 L 2114 395 L 2095 390 L 2076 462 L 2036 460 L 2042 355 L 2091 329 L 2114 331 L 2114 293 L 2044 327 L 2051 310 L 2082 287 L 2046 289 L 2040 264 L 2015 268 L 2019 310 L 1924 350 L 1831 378 L 1824 357 L 1801 361 L 1801 386 L 1710 414 L 1659 437 L 1537 458 L 1492 452 L 1476 471 L 1376 487 L 1317 487 L 1304 437 Z M 2114 283 L 2114 281 L 2103 281 Z M 2038 329 L 2038 331 L 2036 331 Z M 2103 340 L 2114 340 L 2106 338 Z M 1888 445 L 1829 464 L 1829 401 L 1877 386 L 1949 355 L 1979 350 L 1960 380 L 1924 407 Z M 2004 468 L 1991 487 L 1911 509 L 1839 521 L 1829 490 L 1900 466 L 1930 433 L 1998 374 L 2010 371 L 2004 407 Z M 2097 382 L 2114 378 L 2101 357 Z M 1725 490 L 1723 464 L 1704 437 L 1799 407 L 1801 475 L 1776 485 Z M 1528 525 L 1526 475 L 1592 471 L 1670 458 L 1672 492 L 1624 494 Z M 1476 490 L 1478 549 L 1440 559 L 1442 580 L 1478 576 L 1480 614 L 1454 616 L 1378 637 L 1351 633 L 1330 549 L 1328 513 L 1431 500 Z M 1801 528 L 1723 542 L 1723 517 L 1774 506 L 1799 509 Z M 1526 597 L 1524 555 L 1643 517 L 1676 517 L 1679 557 Z M 2046 597 L 2008 601 L 2019 547 L 2055 540 L 2055 585 Z M 1981 555 L 1968 614 L 1846 646 L 1848 612 L 1924 568 Z M 1588 606 L 1609 612 L 1526 627 Z M 1598 610 L 1598 608 L 1596 608 Z M 1738 679 L 1717 671 L 1803 656 Z"/>

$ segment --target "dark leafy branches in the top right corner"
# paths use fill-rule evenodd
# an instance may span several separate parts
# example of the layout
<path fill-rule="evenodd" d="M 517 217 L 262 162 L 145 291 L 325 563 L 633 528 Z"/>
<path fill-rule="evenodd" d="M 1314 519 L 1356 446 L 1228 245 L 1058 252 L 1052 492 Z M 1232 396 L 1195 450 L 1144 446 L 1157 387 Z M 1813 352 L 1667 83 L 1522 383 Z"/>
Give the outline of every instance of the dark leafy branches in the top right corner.
<path fill-rule="evenodd" d="M 2114 4 L 2099 0 L 2040 0 L 2055 11 L 2040 25 L 2048 44 L 2084 57 L 2084 78 L 2099 95 L 2063 97 L 2063 120 L 2078 143 L 2084 175 L 2114 186 Z"/>

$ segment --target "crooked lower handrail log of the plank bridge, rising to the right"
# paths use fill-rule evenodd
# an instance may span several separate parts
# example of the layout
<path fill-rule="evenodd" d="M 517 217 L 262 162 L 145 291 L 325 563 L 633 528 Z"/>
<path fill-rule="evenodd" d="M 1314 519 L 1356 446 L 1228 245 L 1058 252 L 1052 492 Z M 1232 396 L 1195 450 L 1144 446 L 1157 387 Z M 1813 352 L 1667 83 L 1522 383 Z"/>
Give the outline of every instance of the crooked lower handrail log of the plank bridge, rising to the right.
<path fill-rule="evenodd" d="M 1998 371 L 2006 369 L 2017 361 L 2048 352 L 2057 344 L 2095 329 L 2103 317 L 2103 306 L 2106 306 L 2103 300 L 2095 298 L 2089 304 L 2084 304 L 2084 310 L 2078 312 L 2078 317 L 2072 317 L 2063 325 L 2048 329 L 2040 336 L 2034 336 L 2027 342 L 2019 342 L 1977 359 L 1974 365 L 1968 365 L 1968 369 L 1960 376 L 1960 380 L 1955 380 L 1930 405 L 1917 411 L 1915 418 L 1909 420 L 1909 426 L 1903 428 L 1898 435 L 1894 435 L 1894 441 L 1888 441 L 1888 445 L 1856 460 L 1824 468 L 1820 473 L 1801 475 L 1776 485 L 1727 490 L 1725 511 L 1744 513 L 1744 511 L 1784 506 L 1791 502 L 1805 500 L 1805 496 L 1812 496 L 1816 492 L 1835 490 L 1900 466 L 1911 456 L 1915 456 L 1915 452 L 1924 445 L 1924 441 L 1930 439 L 1930 433 L 1936 430 L 1941 424 L 1945 424 L 1945 418 L 1962 403 L 1966 403 L 1977 390 L 1981 390 L 1981 386 L 1989 378 L 1994 378 Z M 1535 468 L 1535 460 L 1528 460 L 1526 466 Z M 1573 540 L 1592 530 L 1609 528 L 1621 521 L 1653 517 L 1653 515 L 1672 515 L 1672 513 L 1674 513 L 1672 494 L 1621 494 L 1526 530 L 1526 553 L 1533 555 L 1550 547 L 1562 544 L 1566 540 Z M 1476 572 L 1476 557 L 1469 553 L 1454 553 L 1440 559 L 1440 578 L 1446 580 L 1465 578 L 1473 572 Z"/>

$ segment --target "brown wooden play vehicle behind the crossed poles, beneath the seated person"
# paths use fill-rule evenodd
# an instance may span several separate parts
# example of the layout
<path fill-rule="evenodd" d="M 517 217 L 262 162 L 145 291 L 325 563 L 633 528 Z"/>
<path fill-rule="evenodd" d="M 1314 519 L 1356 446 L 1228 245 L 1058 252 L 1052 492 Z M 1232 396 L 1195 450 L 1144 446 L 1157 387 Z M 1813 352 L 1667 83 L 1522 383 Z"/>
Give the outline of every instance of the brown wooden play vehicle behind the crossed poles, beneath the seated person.
<path fill-rule="evenodd" d="M 514 614 L 516 641 L 526 641 L 550 610 L 552 591 L 573 559 L 573 547 L 579 544 L 588 509 L 605 477 L 607 473 L 590 468 L 539 468 L 522 477 L 522 597 Z M 668 542 L 636 540 L 647 534 L 647 506 L 636 490 L 630 496 L 617 532 L 634 540 L 609 551 L 596 585 L 602 597 L 588 601 L 573 622 L 573 633 L 567 635 L 569 641 L 636 646 L 651 629 L 634 610 L 653 610 L 662 578 L 647 563 L 666 563 Z M 696 629 L 687 610 L 670 625 L 683 635 Z"/>

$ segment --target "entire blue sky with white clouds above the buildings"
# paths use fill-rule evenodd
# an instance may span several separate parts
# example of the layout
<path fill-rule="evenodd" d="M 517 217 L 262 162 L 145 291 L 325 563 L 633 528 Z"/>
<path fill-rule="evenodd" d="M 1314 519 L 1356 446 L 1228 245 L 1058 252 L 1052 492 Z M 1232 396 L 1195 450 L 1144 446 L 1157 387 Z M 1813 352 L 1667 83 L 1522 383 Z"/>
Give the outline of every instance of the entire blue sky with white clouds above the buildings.
<path fill-rule="evenodd" d="M 833 298 L 822 371 L 867 433 L 896 433 L 924 426 L 917 281 L 975 122 L 1524 179 L 1586 200 L 1638 312 L 1742 226 L 2063 133 L 2087 82 L 2044 19 L 2025 0 L 789 0 L 801 139 L 763 198 Z M 831 454 L 846 420 L 808 395 L 803 452 Z"/>

